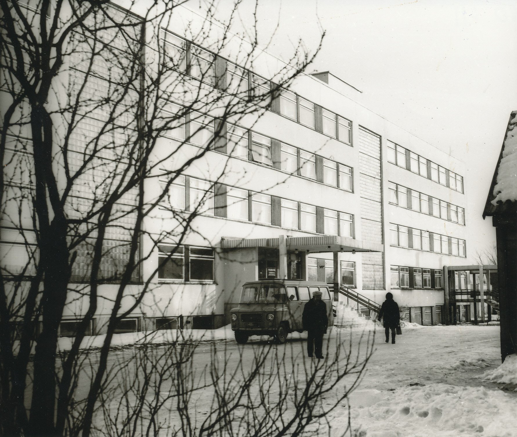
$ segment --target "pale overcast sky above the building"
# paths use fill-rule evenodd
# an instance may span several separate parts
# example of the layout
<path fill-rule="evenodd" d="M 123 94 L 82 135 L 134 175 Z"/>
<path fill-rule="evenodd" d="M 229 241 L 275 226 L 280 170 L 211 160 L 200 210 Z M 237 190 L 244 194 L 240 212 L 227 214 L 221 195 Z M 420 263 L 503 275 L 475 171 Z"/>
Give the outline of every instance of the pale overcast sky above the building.
<path fill-rule="evenodd" d="M 229 5 L 230 2 L 222 2 Z M 241 18 L 250 21 L 244 0 Z M 286 59 L 302 38 L 324 44 L 309 72 L 363 91 L 361 103 L 467 163 L 468 243 L 491 246 L 480 217 L 512 110 L 517 110 L 517 1 L 260 0 L 268 52 Z M 248 9 L 247 9 L 248 8 Z M 471 253 L 472 254 L 472 253 Z"/>

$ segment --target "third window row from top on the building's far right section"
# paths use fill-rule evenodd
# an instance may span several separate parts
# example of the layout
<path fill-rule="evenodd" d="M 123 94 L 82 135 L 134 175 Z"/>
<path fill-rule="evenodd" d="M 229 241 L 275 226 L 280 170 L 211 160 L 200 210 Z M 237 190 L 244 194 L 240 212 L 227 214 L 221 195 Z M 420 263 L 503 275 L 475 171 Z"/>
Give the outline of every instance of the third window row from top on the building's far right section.
<path fill-rule="evenodd" d="M 465 240 L 451 238 L 446 235 L 421 229 L 400 226 L 394 223 L 389 224 L 389 231 L 390 245 L 392 246 L 408 247 L 410 249 L 419 249 L 425 252 L 466 257 Z M 411 235 L 411 238 L 408 238 L 408 235 Z"/>

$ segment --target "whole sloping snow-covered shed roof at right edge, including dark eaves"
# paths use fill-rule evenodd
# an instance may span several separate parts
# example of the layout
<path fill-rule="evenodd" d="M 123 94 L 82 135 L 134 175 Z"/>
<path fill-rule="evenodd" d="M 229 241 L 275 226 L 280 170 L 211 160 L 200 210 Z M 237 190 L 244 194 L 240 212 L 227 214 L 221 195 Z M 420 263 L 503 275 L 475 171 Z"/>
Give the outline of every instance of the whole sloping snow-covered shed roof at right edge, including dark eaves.
<path fill-rule="evenodd" d="M 517 112 L 510 115 L 508 128 L 483 217 L 502 213 L 517 205 Z"/>

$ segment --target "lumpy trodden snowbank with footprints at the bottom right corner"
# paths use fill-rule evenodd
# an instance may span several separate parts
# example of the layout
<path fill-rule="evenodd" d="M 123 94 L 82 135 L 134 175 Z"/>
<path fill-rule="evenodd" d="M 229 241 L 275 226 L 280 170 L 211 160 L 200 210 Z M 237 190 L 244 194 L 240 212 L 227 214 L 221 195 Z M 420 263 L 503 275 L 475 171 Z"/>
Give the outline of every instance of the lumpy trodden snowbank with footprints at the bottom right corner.
<path fill-rule="evenodd" d="M 514 396 L 484 387 L 448 384 L 414 385 L 391 392 L 352 394 L 355 435 L 367 437 L 510 437 L 517 435 Z M 345 417 L 331 420 L 341 435 Z"/>

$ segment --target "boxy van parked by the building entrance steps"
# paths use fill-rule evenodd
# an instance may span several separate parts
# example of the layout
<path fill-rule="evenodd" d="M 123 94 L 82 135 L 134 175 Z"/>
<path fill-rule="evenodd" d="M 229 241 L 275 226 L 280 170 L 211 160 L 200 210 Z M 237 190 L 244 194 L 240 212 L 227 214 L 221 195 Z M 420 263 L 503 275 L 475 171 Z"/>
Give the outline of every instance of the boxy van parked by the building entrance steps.
<path fill-rule="evenodd" d="M 333 324 L 332 299 L 324 282 L 264 279 L 242 286 L 240 303 L 232 308 L 232 330 L 235 340 L 244 344 L 250 335 L 269 335 L 283 344 L 287 334 L 303 331 L 301 316 L 313 291 L 322 292 L 327 307 L 328 325 Z"/>

